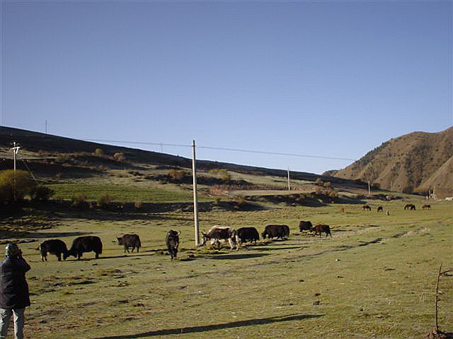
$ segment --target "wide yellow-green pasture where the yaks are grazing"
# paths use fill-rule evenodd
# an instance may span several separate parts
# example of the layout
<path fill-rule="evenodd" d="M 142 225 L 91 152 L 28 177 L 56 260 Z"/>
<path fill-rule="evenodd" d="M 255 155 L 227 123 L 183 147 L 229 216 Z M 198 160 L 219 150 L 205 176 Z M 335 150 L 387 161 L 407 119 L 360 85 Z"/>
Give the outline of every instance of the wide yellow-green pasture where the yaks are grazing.
<path fill-rule="evenodd" d="M 403 210 L 408 203 L 418 210 Z M 253 212 L 200 213 L 200 228 L 285 223 L 289 239 L 239 251 L 194 248 L 193 213 L 35 213 L 6 227 L 48 222 L 21 237 L 41 242 L 101 237 L 101 258 L 40 261 L 38 242 L 23 243 L 32 306 L 26 338 L 421 338 L 434 326 L 435 282 L 453 267 L 452 204 L 421 199 L 361 206 L 268 206 Z M 384 213 L 376 212 L 377 205 Z M 345 213 L 339 213 L 345 208 Z M 389 215 L 386 215 L 389 211 Z M 333 237 L 300 233 L 299 220 L 326 223 Z M 180 230 L 180 260 L 164 249 Z M 137 233 L 139 254 L 113 242 Z M 440 326 L 452 331 L 453 277 L 440 279 Z"/>

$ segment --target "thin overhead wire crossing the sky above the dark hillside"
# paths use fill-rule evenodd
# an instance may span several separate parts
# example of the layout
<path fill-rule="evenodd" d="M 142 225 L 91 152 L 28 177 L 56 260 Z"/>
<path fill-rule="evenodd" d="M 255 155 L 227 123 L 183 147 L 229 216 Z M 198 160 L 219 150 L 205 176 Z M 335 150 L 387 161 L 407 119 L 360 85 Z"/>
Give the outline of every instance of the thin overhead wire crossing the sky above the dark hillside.
<path fill-rule="evenodd" d="M 181 145 L 176 143 L 147 143 L 142 141 L 117 141 L 117 140 L 101 140 L 101 139 L 82 139 L 85 141 L 95 141 L 99 143 L 130 143 L 136 145 L 155 145 L 155 146 L 171 146 L 171 147 L 192 147 L 192 145 Z M 348 160 L 354 161 L 348 157 L 325 157 L 323 155 L 306 155 L 297 153 L 280 153 L 280 152 L 268 152 L 264 150 L 243 150 L 239 148 L 222 148 L 222 147 L 211 147 L 211 146 L 197 146 L 197 148 L 205 148 L 207 150 L 226 150 L 230 152 L 242 152 L 242 153 L 256 153 L 256 154 L 268 154 L 268 155 L 285 155 L 289 157 L 311 157 L 317 159 L 330 159 L 330 160 Z"/>

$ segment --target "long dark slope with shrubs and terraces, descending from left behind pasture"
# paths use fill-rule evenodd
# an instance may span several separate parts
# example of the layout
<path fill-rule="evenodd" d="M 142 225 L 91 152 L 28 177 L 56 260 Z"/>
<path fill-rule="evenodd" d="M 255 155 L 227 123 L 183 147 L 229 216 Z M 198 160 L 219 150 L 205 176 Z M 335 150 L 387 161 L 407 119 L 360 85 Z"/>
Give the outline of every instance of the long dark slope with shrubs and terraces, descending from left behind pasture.
<path fill-rule="evenodd" d="M 77 196 L 96 200 L 108 194 L 120 203 L 188 202 L 192 196 L 192 160 L 176 155 L 80 141 L 33 131 L 0 128 L 0 170 L 11 169 L 10 145 L 21 145 L 17 168 L 33 174 L 55 191 L 55 199 Z M 200 200 L 253 195 L 273 190 L 280 194 L 315 191 L 316 180 L 330 183 L 324 191 L 354 189 L 365 193 L 365 183 L 291 172 L 292 190 L 287 190 L 287 171 L 225 162 L 197 160 Z M 317 189 L 318 193 L 322 193 Z"/>

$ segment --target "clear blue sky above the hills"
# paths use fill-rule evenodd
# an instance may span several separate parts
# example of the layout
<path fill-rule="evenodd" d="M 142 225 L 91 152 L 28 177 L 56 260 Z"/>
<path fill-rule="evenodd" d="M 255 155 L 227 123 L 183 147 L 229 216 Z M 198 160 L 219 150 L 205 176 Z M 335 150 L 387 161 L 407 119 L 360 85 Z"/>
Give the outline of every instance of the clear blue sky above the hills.
<path fill-rule="evenodd" d="M 2 0 L 1 125 L 357 160 L 452 126 L 452 4 Z M 197 153 L 315 173 L 352 162 Z"/>

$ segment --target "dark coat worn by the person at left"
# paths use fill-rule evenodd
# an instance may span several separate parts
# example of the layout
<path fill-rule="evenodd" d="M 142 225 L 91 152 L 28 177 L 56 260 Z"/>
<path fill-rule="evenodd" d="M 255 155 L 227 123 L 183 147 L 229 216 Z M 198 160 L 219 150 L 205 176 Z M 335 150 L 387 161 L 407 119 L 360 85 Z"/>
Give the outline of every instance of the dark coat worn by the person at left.
<path fill-rule="evenodd" d="M 0 263 L 0 308 L 24 309 L 30 306 L 25 272 L 30 265 L 23 258 L 6 258 Z"/>

